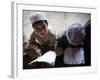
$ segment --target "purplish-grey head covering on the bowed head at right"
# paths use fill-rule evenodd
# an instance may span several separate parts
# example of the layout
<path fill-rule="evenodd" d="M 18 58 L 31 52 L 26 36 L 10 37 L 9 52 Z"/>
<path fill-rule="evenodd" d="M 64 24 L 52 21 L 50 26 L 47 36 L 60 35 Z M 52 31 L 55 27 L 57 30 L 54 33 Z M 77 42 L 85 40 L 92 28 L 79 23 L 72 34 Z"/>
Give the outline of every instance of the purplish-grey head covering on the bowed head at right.
<path fill-rule="evenodd" d="M 72 45 L 79 45 L 85 38 L 85 31 L 81 24 L 74 23 L 67 30 L 68 42 Z"/>

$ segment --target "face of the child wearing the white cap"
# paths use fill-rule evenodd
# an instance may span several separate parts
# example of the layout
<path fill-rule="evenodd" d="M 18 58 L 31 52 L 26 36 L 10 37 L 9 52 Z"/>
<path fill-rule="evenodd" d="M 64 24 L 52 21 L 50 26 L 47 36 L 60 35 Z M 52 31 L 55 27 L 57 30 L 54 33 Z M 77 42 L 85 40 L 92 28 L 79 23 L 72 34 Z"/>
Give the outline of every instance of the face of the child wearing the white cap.
<path fill-rule="evenodd" d="M 37 32 L 38 36 L 41 38 L 46 37 L 48 33 L 47 29 L 48 25 L 46 24 L 45 21 L 39 21 L 34 24 L 34 30 Z"/>

